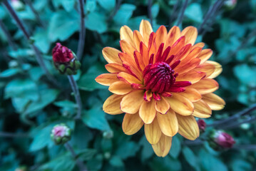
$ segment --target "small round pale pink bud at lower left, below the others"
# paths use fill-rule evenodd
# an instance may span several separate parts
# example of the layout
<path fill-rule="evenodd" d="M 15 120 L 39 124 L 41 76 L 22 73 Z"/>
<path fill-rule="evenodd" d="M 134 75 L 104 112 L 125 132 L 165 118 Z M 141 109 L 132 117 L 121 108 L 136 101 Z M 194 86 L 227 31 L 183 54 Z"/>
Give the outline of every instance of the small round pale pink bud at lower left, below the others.
<path fill-rule="evenodd" d="M 58 124 L 51 130 L 51 140 L 55 142 L 56 145 L 65 144 L 71 139 L 71 129 L 66 124 Z"/>

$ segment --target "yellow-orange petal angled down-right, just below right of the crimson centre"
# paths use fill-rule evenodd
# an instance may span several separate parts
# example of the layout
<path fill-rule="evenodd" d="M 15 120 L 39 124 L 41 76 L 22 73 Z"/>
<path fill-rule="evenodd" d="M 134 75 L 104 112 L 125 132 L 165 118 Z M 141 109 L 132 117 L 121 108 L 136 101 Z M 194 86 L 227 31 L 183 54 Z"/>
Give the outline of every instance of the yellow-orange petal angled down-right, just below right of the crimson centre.
<path fill-rule="evenodd" d="M 173 93 L 173 97 L 165 99 L 170 104 L 170 108 L 176 113 L 180 115 L 191 115 L 193 113 L 194 105 L 188 98 L 184 98 L 182 95 L 178 95 L 178 93 Z"/>

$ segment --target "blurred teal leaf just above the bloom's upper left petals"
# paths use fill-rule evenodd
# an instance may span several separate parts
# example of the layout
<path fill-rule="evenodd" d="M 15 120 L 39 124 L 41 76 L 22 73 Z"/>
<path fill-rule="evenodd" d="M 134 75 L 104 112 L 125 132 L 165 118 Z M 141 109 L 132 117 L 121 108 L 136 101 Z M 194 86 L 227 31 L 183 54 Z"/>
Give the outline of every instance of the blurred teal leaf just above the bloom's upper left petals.
<path fill-rule="evenodd" d="M 116 15 L 113 17 L 118 25 L 125 25 L 130 17 L 133 15 L 133 11 L 136 9 L 136 6 L 133 4 L 122 4 Z"/>

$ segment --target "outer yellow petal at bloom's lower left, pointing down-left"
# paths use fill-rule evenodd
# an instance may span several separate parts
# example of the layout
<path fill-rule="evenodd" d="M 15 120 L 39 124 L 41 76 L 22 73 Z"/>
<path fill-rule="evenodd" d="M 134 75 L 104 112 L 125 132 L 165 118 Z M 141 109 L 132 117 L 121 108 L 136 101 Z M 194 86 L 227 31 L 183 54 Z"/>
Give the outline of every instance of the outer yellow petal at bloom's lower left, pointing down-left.
<path fill-rule="evenodd" d="M 138 113 L 134 115 L 126 113 L 122 123 L 123 133 L 125 133 L 126 135 L 133 135 L 137 133 L 138 130 L 140 130 L 143 124 L 144 123 L 140 119 Z"/>

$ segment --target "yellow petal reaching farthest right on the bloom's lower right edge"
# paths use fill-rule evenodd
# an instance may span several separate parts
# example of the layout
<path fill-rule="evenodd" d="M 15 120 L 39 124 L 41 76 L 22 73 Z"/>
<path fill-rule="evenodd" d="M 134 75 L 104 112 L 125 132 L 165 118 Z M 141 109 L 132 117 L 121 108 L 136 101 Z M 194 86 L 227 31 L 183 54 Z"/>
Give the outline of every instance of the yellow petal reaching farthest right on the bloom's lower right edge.
<path fill-rule="evenodd" d="M 222 110 L 225 107 L 225 101 L 220 96 L 213 93 L 203 95 L 203 100 L 212 110 Z"/>

